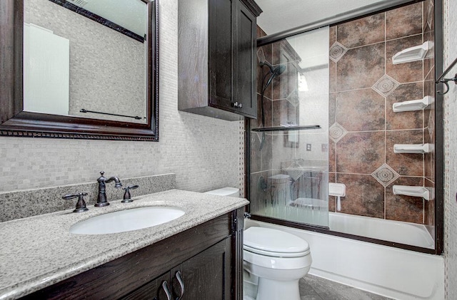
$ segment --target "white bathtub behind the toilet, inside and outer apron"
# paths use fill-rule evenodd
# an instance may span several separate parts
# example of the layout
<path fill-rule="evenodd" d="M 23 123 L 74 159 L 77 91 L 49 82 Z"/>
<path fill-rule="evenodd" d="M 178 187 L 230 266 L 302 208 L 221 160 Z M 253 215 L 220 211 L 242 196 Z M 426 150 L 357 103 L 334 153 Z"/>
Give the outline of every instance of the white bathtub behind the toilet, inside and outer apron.
<path fill-rule="evenodd" d="M 402 244 L 407 244 L 404 239 L 406 236 L 409 238 L 410 234 L 416 238 L 420 237 L 418 240 L 422 239 L 421 242 L 415 241 L 416 245 L 423 242 L 421 247 L 424 247 L 430 243 L 426 238 L 426 230 L 423 232 L 420 226 L 404 226 L 411 225 L 409 223 L 390 221 L 384 224 L 386 220 L 339 213 L 330 213 L 328 217 L 332 230 L 344 232 L 356 224 L 356 228 L 363 232 L 351 231 L 351 234 L 392 240 L 379 234 L 392 236 L 393 233 L 398 234 L 400 230 L 406 229 L 406 233 L 398 234 L 403 238 Z M 360 226 L 362 221 L 365 222 Z M 375 224 L 366 221 L 375 221 Z M 382 229 L 379 229 L 379 225 L 382 225 Z M 313 257 L 309 274 L 393 299 L 444 299 L 444 260 L 439 255 L 246 219 L 246 228 L 251 226 L 280 229 L 305 239 L 310 245 Z"/>

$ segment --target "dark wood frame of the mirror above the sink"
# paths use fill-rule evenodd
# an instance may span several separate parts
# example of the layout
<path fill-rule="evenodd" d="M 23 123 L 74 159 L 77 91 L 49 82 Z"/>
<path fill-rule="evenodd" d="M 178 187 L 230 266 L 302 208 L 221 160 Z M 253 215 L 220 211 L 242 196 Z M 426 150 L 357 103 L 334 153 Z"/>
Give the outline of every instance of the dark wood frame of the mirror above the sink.
<path fill-rule="evenodd" d="M 24 111 L 24 1 L 1 0 L 0 136 L 159 141 L 159 0 L 147 2 L 147 123 L 139 124 Z"/>

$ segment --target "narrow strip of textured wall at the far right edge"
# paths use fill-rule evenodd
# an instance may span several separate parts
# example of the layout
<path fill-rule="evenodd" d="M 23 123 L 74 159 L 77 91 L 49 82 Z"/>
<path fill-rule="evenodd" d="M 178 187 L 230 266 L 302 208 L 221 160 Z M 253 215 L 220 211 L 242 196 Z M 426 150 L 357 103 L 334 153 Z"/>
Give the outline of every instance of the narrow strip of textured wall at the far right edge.
<path fill-rule="evenodd" d="M 457 58 L 457 3 L 444 0 L 443 40 L 444 66 Z M 448 73 L 451 78 L 457 67 Z M 444 157 L 445 157 L 445 208 L 444 208 L 444 265 L 446 299 L 457 299 L 457 86 L 449 85 L 451 90 L 444 99 Z"/>

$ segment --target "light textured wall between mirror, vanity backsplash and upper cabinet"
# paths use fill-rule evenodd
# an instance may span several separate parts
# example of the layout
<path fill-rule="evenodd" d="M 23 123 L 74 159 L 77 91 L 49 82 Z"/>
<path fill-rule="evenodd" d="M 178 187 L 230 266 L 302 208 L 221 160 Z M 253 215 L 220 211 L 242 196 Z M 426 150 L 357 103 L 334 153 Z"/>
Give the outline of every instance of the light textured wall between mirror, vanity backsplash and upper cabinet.
<path fill-rule="evenodd" d="M 177 5 L 160 2 L 160 142 L 0 138 L 0 192 L 92 182 L 101 170 L 174 172 L 176 188 L 192 191 L 242 184 L 243 123 L 177 109 Z"/>

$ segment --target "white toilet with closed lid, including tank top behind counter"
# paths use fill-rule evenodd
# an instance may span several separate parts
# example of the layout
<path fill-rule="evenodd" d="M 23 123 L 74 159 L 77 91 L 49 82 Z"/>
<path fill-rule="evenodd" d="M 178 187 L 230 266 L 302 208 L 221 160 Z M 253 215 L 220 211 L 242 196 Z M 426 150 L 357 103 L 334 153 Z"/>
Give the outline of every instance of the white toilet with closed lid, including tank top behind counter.
<path fill-rule="evenodd" d="M 238 197 L 233 187 L 206 192 Z M 288 232 L 249 227 L 243 237 L 244 300 L 300 300 L 298 280 L 311 267 L 309 244 Z"/>

